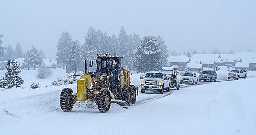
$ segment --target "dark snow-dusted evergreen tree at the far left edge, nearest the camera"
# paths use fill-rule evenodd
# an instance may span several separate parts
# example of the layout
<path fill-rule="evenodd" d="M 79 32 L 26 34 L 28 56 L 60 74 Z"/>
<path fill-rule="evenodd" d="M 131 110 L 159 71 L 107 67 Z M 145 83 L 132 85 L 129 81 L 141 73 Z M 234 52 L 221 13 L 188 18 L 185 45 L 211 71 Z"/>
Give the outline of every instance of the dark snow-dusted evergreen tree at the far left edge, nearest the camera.
<path fill-rule="evenodd" d="M 6 63 L 7 72 L 4 78 L 0 81 L 0 87 L 5 89 L 11 89 L 12 87 L 20 87 L 23 84 L 21 76 L 19 76 L 20 68 L 15 60 L 9 59 Z"/>

